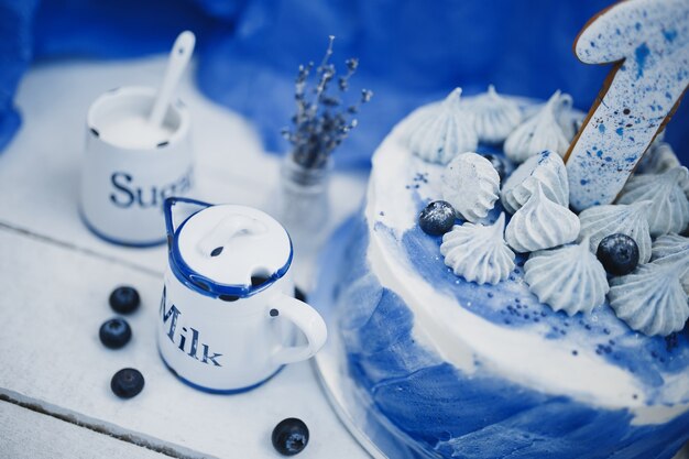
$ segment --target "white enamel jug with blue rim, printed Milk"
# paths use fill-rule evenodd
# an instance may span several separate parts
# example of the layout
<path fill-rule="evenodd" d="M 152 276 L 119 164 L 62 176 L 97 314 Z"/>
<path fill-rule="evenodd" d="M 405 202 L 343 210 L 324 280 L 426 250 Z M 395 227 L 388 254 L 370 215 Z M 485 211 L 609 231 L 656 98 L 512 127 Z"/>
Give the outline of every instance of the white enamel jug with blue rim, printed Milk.
<path fill-rule="evenodd" d="M 250 207 L 168 198 L 165 221 L 169 263 L 157 340 L 179 379 L 242 392 L 322 347 L 326 325 L 294 298 L 292 242 L 276 220 Z M 294 345 L 297 330 L 305 345 Z"/>

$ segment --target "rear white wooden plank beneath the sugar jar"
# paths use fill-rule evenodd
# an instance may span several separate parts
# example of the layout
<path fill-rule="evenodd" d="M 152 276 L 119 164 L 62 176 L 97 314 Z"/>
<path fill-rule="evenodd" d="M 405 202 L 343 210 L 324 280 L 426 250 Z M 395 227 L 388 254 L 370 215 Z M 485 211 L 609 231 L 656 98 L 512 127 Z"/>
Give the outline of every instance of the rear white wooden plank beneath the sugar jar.
<path fill-rule="evenodd" d="M 0 223 L 162 272 L 164 248 L 121 248 L 92 236 L 78 217 L 78 192 L 89 105 L 117 86 L 155 86 L 164 69 L 163 57 L 32 68 L 17 95 L 24 123 L 0 154 Z M 189 75 L 181 84 L 181 97 L 193 116 L 194 197 L 265 209 L 277 185 L 278 161 L 263 152 L 247 121 L 199 94 Z M 364 181 L 356 174 L 333 177 L 330 228 L 358 207 Z"/>

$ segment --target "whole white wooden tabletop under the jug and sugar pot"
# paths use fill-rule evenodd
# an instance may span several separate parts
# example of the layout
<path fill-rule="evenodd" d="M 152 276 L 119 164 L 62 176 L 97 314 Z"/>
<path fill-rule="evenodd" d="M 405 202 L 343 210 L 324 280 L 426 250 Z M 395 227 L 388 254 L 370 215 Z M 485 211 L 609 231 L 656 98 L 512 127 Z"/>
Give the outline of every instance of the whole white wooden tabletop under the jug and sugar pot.
<path fill-rule="evenodd" d="M 179 383 L 154 340 L 165 249 L 110 245 L 79 221 L 89 103 L 116 86 L 155 86 L 164 66 L 162 57 L 63 61 L 35 66 L 20 87 L 24 123 L 0 154 L 0 457 L 276 458 L 271 430 L 292 416 L 311 434 L 299 457 L 368 457 L 329 406 L 309 362 L 240 395 Z M 205 99 L 188 76 L 182 98 L 194 117 L 195 197 L 265 208 L 277 161 L 262 152 L 245 121 Z M 364 176 L 336 175 L 331 227 L 356 210 L 364 184 Z M 310 286 L 311 269 L 297 259 L 297 285 Z M 135 286 L 142 307 L 128 317 L 132 341 L 113 351 L 99 342 L 98 329 L 114 316 L 108 296 L 119 284 Z M 128 401 L 109 387 L 124 367 L 141 370 L 146 381 Z"/>

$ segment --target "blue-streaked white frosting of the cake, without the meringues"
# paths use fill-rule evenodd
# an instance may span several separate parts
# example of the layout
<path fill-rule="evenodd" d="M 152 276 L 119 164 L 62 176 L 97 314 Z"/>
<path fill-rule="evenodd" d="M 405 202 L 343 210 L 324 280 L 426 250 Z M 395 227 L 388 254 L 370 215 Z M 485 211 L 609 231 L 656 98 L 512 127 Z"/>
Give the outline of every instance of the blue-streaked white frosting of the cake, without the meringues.
<path fill-rule="evenodd" d="M 338 276 L 338 332 L 371 417 L 414 445 L 398 456 L 671 458 L 689 440 L 687 330 L 646 337 L 608 304 L 555 313 L 520 254 L 496 285 L 455 275 L 416 221 L 444 167 L 405 147 L 406 122 L 375 153 L 364 218 L 322 274 Z"/>

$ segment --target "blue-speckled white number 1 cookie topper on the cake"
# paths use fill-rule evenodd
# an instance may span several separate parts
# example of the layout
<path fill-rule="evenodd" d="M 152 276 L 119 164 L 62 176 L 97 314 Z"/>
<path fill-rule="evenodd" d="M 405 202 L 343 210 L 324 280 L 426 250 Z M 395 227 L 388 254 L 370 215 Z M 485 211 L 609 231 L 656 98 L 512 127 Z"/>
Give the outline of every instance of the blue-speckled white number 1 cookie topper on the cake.
<path fill-rule="evenodd" d="M 565 156 L 570 204 L 612 203 L 689 85 L 689 0 L 626 0 L 594 17 L 575 54 L 616 63 Z"/>

